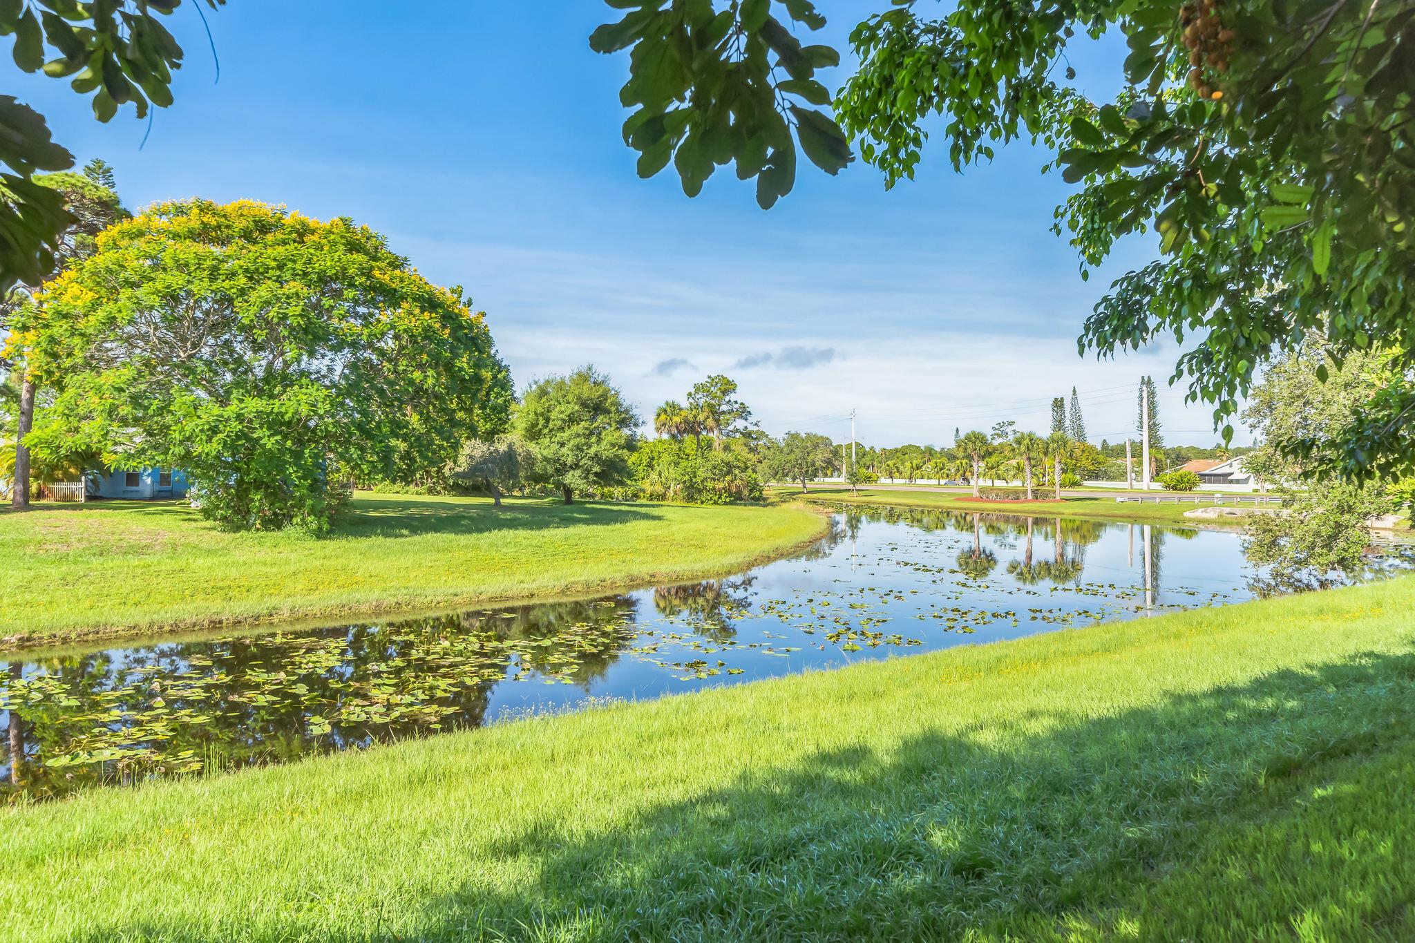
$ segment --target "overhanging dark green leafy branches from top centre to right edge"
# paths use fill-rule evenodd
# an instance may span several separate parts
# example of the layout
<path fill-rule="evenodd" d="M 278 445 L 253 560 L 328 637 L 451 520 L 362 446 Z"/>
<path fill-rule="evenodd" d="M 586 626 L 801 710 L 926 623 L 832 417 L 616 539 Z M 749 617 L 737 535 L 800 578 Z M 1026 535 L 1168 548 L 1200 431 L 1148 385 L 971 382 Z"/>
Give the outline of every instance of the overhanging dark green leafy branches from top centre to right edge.
<path fill-rule="evenodd" d="M 860 66 L 838 96 L 815 79 L 835 51 L 791 33 L 824 25 L 808 0 L 610 6 L 627 13 L 591 45 L 631 49 L 641 174 L 672 160 L 693 195 L 733 164 L 770 206 L 794 180 L 792 96 L 835 110 L 797 127 L 808 157 L 839 171 L 849 136 L 887 185 L 914 177 L 931 131 L 955 170 L 1040 141 L 1081 187 L 1056 228 L 1082 276 L 1121 239 L 1159 238 L 1156 262 L 1097 304 L 1082 351 L 1190 339 L 1174 380 L 1218 424 L 1306 332 L 1337 361 L 1380 339 L 1391 383 L 1330 448 L 1295 454 L 1358 479 L 1415 469 L 1415 0 L 961 0 L 942 16 L 900 0 L 852 30 Z M 1091 102 L 1067 83 L 1067 49 L 1107 31 L 1131 54 L 1115 100 Z"/>

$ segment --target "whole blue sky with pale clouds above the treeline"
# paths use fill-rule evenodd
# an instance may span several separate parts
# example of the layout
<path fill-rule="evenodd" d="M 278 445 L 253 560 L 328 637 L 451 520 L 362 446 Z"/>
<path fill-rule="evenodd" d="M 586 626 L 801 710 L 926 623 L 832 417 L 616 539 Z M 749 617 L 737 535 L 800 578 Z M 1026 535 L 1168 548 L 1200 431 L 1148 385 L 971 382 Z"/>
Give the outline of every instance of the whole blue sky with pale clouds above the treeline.
<path fill-rule="evenodd" d="M 869 8 L 821 6 L 838 47 Z M 1073 386 L 1092 438 L 1122 438 L 1150 373 L 1166 440 L 1215 440 L 1207 410 L 1165 386 L 1173 346 L 1077 355 L 1121 269 L 1078 277 L 1049 230 L 1067 187 L 1040 174 L 1043 151 L 1017 143 L 958 175 L 938 146 L 893 191 L 863 164 L 829 178 L 802 163 L 770 212 L 719 170 L 688 199 L 672 175 L 638 180 L 620 139 L 627 58 L 586 41 L 613 13 L 593 0 L 231 0 L 207 14 L 215 82 L 185 3 L 177 103 L 142 150 L 130 110 L 98 124 L 67 83 L 41 78 L 18 95 L 81 161 L 113 164 L 130 206 L 252 198 L 378 229 L 430 279 L 466 287 L 518 386 L 593 362 L 649 416 L 727 372 L 771 433 L 845 438 L 856 407 L 860 440 L 893 445 L 1000 418 L 1044 430 L 1050 397 Z M 1073 57 L 1095 95 L 1118 61 L 1107 42 Z M 1136 242 L 1116 263 L 1150 252 Z"/>

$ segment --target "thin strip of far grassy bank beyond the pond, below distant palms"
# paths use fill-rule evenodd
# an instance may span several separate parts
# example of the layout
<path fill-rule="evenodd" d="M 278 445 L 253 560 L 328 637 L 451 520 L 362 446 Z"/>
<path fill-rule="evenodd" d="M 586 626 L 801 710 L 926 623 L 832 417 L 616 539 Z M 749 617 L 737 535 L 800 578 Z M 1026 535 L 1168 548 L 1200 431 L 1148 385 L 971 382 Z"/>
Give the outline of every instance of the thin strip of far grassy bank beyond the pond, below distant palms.
<path fill-rule="evenodd" d="M 778 488 L 773 493 L 784 500 L 807 500 L 829 505 L 891 505 L 894 508 L 944 508 L 951 510 L 988 510 L 1000 515 L 1036 515 L 1041 517 L 1090 517 L 1092 520 L 1121 520 L 1148 525 L 1223 525 L 1223 520 L 1196 522 L 1184 517 L 1186 510 L 1193 510 L 1201 505 L 1139 505 L 1131 502 L 1116 502 L 1104 496 L 1065 496 L 1061 500 L 1047 500 L 1046 492 L 1039 491 L 1039 500 L 1005 502 L 978 500 L 971 493 L 941 492 L 941 491 L 890 491 L 880 488 L 860 488 L 857 495 L 852 495 L 849 488 L 833 485 L 812 486 L 808 493 L 801 493 L 799 488 Z"/>

